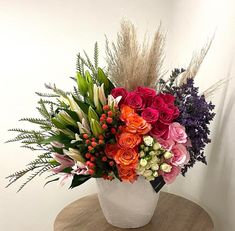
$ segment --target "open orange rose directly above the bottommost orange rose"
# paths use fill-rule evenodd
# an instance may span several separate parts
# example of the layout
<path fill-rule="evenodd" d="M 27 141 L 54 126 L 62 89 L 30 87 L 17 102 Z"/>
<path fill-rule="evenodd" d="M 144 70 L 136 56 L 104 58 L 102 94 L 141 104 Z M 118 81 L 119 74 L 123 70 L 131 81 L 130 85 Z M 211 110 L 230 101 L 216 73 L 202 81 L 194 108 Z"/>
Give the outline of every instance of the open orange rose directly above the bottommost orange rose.
<path fill-rule="evenodd" d="M 139 160 L 138 153 L 134 149 L 119 149 L 114 156 L 114 160 L 120 165 L 136 166 Z"/>

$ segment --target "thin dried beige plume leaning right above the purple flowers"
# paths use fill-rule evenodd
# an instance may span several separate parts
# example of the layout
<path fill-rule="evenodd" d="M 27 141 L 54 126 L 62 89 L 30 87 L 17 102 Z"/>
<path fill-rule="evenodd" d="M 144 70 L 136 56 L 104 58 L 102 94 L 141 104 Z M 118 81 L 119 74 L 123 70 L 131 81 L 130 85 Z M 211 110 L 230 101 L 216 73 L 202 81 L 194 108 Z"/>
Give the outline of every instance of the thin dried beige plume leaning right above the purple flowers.
<path fill-rule="evenodd" d="M 187 79 L 195 78 L 199 68 L 210 49 L 214 36 L 209 40 L 209 42 L 199 51 L 193 54 L 191 61 L 186 69 L 186 71 L 181 75 L 179 79 L 179 86 L 186 83 Z"/>

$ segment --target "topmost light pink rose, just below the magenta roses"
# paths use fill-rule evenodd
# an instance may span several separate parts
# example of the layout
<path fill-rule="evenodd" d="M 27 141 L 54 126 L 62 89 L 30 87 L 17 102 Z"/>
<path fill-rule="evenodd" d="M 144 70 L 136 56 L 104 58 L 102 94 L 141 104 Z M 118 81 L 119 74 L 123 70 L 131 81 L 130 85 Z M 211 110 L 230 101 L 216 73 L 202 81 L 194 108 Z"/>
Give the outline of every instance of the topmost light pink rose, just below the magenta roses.
<path fill-rule="evenodd" d="M 185 127 L 177 122 L 169 125 L 168 139 L 172 139 L 177 143 L 186 143 L 187 134 L 185 132 Z"/>

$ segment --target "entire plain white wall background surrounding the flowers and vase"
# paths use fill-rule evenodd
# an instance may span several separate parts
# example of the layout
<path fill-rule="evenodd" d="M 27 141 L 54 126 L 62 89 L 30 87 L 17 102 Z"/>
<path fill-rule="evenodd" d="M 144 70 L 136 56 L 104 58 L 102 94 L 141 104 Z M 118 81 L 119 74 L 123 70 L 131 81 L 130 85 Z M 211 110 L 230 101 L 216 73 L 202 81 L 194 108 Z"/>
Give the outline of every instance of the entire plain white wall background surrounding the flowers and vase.
<path fill-rule="evenodd" d="M 7 129 L 24 127 L 18 119 L 37 115 L 34 92 L 44 91 L 44 83 L 72 89 L 69 76 L 74 76 L 78 51 L 90 53 L 98 41 L 103 66 L 104 33 L 115 39 L 122 17 L 137 25 L 141 38 L 146 31 L 151 35 L 161 20 L 167 31 L 165 70 L 170 70 L 185 67 L 192 51 L 216 30 L 197 77 L 204 90 L 221 78 L 235 77 L 234 13 L 232 0 L 0 0 L 0 230 L 53 230 L 55 216 L 66 204 L 96 191 L 93 181 L 69 191 L 56 184 L 43 188 L 43 177 L 18 194 L 19 185 L 4 188 L 4 177 L 36 156 L 17 143 L 3 144 L 13 136 Z M 204 207 L 216 231 L 235 230 L 234 92 L 232 79 L 213 98 L 217 117 L 206 150 L 208 166 L 197 164 L 187 178 L 165 188 Z"/>

